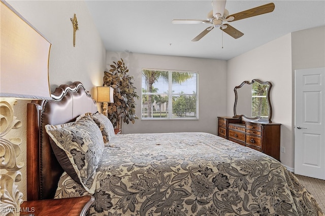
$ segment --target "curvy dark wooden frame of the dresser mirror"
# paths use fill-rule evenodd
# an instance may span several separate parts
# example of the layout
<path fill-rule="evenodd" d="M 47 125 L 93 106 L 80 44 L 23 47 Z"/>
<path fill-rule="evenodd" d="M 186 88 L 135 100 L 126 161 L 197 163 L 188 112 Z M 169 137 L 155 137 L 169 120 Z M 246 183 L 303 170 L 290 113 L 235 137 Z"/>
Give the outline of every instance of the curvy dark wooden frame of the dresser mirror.
<path fill-rule="evenodd" d="M 254 82 L 258 82 L 259 84 L 262 84 L 262 85 L 269 85 L 269 87 L 267 88 L 267 92 L 266 92 L 267 104 L 269 106 L 269 109 L 268 109 L 269 116 L 268 116 L 268 118 L 262 118 L 261 116 L 249 117 L 249 116 L 246 116 L 244 114 L 237 114 L 237 103 L 238 103 L 237 89 L 243 87 L 245 84 L 246 85 L 252 85 Z M 244 81 L 239 86 L 236 86 L 235 89 L 234 89 L 234 92 L 235 92 L 234 117 L 235 118 L 244 117 L 244 118 L 250 119 L 250 120 L 258 120 L 258 121 L 270 122 L 271 123 L 272 122 L 271 121 L 271 118 L 272 118 L 272 106 L 271 106 L 271 99 L 270 99 L 270 90 L 271 90 L 271 88 L 272 88 L 272 84 L 270 82 L 262 82 L 262 81 L 257 80 L 257 79 L 252 80 L 252 82 Z"/>

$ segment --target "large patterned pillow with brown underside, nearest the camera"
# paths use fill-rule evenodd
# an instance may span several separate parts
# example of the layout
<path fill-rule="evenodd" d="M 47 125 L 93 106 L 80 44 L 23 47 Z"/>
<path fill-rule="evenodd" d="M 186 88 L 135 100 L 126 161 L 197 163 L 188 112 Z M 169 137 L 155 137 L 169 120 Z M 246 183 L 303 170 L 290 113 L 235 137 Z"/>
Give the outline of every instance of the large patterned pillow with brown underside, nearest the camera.
<path fill-rule="evenodd" d="M 101 131 L 89 116 L 74 123 L 46 125 L 53 152 L 74 181 L 94 193 L 96 168 L 104 151 Z"/>

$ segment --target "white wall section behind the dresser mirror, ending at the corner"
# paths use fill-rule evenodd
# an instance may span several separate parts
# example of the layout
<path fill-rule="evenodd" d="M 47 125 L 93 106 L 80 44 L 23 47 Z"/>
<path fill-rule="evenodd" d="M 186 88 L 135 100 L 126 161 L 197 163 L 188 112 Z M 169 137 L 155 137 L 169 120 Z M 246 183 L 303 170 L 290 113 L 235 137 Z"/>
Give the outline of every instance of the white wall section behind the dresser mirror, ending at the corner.
<path fill-rule="evenodd" d="M 281 123 L 281 162 L 294 167 L 294 146 L 291 133 L 292 115 L 292 73 L 291 73 L 291 35 L 287 34 L 261 47 L 237 56 L 228 61 L 227 69 L 227 115 L 234 114 L 235 86 L 253 79 L 272 83 L 271 104 L 272 122 Z M 250 101 L 248 101 L 250 102 Z"/>

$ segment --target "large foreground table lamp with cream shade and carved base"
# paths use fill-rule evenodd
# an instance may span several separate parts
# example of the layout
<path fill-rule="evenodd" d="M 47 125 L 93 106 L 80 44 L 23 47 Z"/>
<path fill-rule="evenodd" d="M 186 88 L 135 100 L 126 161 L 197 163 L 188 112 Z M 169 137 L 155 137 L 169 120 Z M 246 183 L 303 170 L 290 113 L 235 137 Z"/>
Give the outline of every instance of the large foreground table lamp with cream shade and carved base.
<path fill-rule="evenodd" d="M 13 106 L 18 98 L 51 98 L 48 78 L 51 44 L 8 3 L 1 1 L 0 7 L 0 209 L 5 215 L 19 215 L 23 194 L 15 183 L 21 181 L 20 169 L 24 166 L 16 159 L 22 139 L 8 138 L 8 133 L 22 123 L 14 116 Z"/>

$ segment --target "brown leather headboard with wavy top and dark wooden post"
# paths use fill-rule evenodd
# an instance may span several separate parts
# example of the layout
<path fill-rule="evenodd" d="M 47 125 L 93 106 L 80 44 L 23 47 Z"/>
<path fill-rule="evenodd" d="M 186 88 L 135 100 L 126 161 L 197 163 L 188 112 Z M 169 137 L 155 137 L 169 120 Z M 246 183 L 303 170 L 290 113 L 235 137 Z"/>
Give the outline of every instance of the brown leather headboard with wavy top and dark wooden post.
<path fill-rule="evenodd" d="M 81 114 L 96 112 L 95 100 L 80 82 L 60 85 L 52 93 L 52 100 L 27 104 L 27 200 L 53 198 L 63 172 L 45 125 L 72 122 Z"/>

